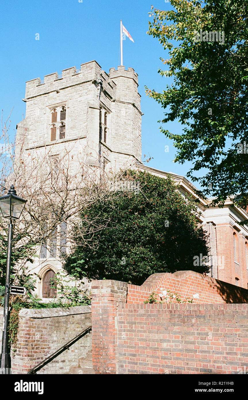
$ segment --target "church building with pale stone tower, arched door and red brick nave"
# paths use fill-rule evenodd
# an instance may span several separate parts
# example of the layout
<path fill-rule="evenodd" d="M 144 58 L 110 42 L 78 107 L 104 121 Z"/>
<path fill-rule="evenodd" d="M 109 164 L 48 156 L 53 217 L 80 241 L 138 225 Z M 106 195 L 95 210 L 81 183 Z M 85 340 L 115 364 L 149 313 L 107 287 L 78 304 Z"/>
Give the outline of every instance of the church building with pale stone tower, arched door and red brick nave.
<path fill-rule="evenodd" d="M 25 119 L 17 126 L 16 159 L 20 154 L 18 142 L 24 132 L 24 152 L 53 146 L 54 157 L 59 157 L 64 146 L 74 142 L 88 146 L 99 156 L 102 168 L 118 170 L 134 166 L 142 171 L 166 178 L 168 172 L 142 164 L 140 94 L 138 74 L 133 68 L 104 72 L 96 61 L 26 82 Z M 92 160 L 94 164 L 95 161 Z M 96 165 L 96 164 L 95 164 Z M 97 166 L 97 165 L 96 165 Z M 180 186 L 182 196 L 196 198 L 196 187 L 185 177 L 170 175 Z M 248 226 L 238 222 L 248 214 L 226 200 L 223 208 L 206 208 L 211 200 L 198 203 L 199 224 L 209 234 L 210 275 L 213 278 L 248 288 Z M 201 214 L 200 214 L 201 213 Z M 66 226 L 60 227 L 57 240 L 66 241 Z M 61 246 L 60 246 L 61 249 Z M 206 254 L 202 255 L 203 257 Z M 39 260 L 28 266 L 36 273 L 37 294 L 44 301 L 56 295 L 50 278 L 62 270 L 60 250 L 48 246 L 40 250 Z M 193 261 L 192 261 L 193 269 Z"/>

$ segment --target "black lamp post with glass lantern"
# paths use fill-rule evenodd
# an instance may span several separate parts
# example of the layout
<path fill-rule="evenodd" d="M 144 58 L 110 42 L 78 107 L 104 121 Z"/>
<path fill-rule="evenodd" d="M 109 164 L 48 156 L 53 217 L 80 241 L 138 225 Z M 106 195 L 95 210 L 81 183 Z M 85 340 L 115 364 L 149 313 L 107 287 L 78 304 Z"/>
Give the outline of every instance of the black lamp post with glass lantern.
<path fill-rule="evenodd" d="M 11 374 L 10 369 L 10 353 L 8 346 L 8 320 L 9 320 L 9 299 L 10 299 L 10 263 L 12 253 L 12 234 L 13 224 L 12 220 L 20 218 L 27 200 L 16 196 L 16 190 L 11 185 L 10 190 L 6 196 L 0 197 L 0 209 L 4 218 L 10 220 L 8 226 L 8 250 L 6 262 L 6 280 L 5 280 L 5 294 L 4 294 L 4 326 L 2 332 L 2 353 L 0 356 L 0 374 Z"/>

